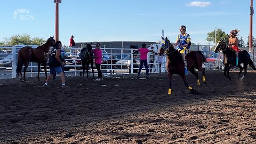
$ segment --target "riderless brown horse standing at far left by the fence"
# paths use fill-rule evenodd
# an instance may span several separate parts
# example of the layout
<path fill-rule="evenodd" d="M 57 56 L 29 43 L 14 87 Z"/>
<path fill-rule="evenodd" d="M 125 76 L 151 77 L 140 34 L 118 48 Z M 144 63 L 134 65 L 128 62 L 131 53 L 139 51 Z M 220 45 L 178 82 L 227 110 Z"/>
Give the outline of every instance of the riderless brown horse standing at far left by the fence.
<path fill-rule="evenodd" d="M 17 63 L 17 77 L 20 75 L 20 80 L 22 81 L 22 73 L 21 69 L 24 65 L 23 69 L 23 81 L 26 81 L 26 71 L 28 68 L 29 61 L 31 62 L 37 62 L 37 79 L 39 79 L 39 73 L 41 70 L 41 63 L 43 63 L 44 66 L 44 72 L 45 72 L 45 78 L 47 78 L 47 71 L 46 71 L 46 54 L 49 52 L 50 46 L 53 46 L 55 44 L 55 40 L 53 39 L 53 36 L 50 36 L 50 38 L 47 39 L 46 43 L 42 46 L 38 46 L 36 49 L 33 49 L 30 46 L 22 47 L 18 52 L 18 63 Z"/>

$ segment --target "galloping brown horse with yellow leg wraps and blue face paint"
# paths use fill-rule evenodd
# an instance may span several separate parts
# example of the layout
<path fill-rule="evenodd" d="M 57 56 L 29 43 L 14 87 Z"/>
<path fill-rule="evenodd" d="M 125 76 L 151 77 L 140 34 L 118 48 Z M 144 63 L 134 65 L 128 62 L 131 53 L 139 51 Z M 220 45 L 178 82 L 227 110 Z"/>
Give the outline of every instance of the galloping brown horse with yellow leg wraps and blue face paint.
<path fill-rule="evenodd" d="M 170 43 L 169 39 L 167 37 L 163 38 L 162 37 L 162 43 L 161 43 L 161 48 L 158 51 L 159 56 L 162 56 L 164 52 L 167 54 L 167 62 L 166 62 L 166 69 L 169 77 L 169 91 L 168 94 L 171 94 L 171 87 L 172 87 L 172 75 L 173 74 L 178 74 L 182 77 L 185 86 L 188 87 L 189 91 L 191 93 L 195 93 L 195 89 L 193 87 L 190 87 L 188 85 L 187 77 L 185 75 L 185 70 L 184 70 L 184 62 L 182 61 L 181 54 L 174 49 L 172 44 Z M 206 57 L 204 54 L 202 54 L 201 51 L 190 51 L 188 55 L 186 56 L 187 60 L 187 69 L 194 75 L 196 76 L 197 79 L 197 85 L 202 86 L 198 73 L 195 71 L 195 69 L 202 71 L 203 73 L 203 82 L 206 83 L 205 81 L 205 69 L 202 67 L 204 62 L 206 61 Z"/>

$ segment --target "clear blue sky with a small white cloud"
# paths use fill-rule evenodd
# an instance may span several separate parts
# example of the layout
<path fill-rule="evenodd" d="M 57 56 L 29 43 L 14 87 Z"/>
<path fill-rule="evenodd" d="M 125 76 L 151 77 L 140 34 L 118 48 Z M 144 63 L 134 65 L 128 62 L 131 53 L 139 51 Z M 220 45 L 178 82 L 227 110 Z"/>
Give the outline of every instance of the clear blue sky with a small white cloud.
<path fill-rule="evenodd" d="M 161 41 L 162 30 L 171 42 L 185 25 L 191 42 L 208 45 L 207 33 L 220 28 L 241 30 L 245 43 L 250 29 L 251 0 L 62 0 L 59 40 L 75 42 Z M 17 34 L 49 38 L 55 34 L 53 0 L 1 1 L 0 42 Z M 255 37 L 255 18 L 253 35 Z M 213 45 L 212 42 L 210 42 Z"/>

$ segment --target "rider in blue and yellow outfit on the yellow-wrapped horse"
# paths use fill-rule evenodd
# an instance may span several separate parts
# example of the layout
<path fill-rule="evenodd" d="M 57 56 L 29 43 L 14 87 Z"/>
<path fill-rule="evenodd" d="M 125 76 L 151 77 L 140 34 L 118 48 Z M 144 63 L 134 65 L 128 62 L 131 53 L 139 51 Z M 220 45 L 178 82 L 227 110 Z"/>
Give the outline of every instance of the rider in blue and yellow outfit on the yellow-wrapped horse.
<path fill-rule="evenodd" d="M 180 52 L 182 60 L 184 62 L 185 75 L 188 75 L 186 55 L 189 52 L 191 42 L 189 34 L 186 33 L 186 26 L 184 25 L 180 26 L 180 34 L 177 36 L 177 41 L 174 46 L 177 45 L 179 45 L 178 51 Z"/>

